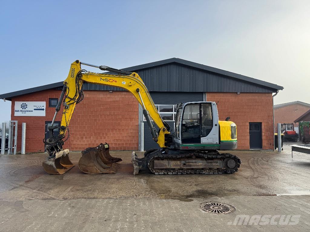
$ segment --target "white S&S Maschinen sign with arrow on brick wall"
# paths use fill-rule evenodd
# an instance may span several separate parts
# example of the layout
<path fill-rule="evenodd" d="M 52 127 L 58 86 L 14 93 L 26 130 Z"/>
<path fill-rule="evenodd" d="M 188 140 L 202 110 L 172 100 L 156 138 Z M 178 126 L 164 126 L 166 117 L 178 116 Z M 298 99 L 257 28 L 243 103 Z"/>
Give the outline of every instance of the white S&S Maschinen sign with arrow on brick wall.
<path fill-rule="evenodd" d="M 15 101 L 14 116 L 45 116 L 45 101 Z"/>

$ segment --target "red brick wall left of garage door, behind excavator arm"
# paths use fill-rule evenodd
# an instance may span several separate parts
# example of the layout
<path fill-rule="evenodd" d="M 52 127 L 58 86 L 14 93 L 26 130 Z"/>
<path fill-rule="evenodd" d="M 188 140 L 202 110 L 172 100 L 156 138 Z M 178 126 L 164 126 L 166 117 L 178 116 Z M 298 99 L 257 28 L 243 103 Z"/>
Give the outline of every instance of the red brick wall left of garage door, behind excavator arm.
<path fill-rule="evenodd" d="M 11 120 L 18 120 L 17 151 L 21 149 L 21 123 L 26 122 L 26 152 L 44 151 L 45 121 L 51 121 L 55 108 L 49 98 L 59 98 L 60 90 L 45 90 L 12 99 Z M 84 91 L 69 125 L 70 137 L 64 148 L 80 151 L 107 142 L 111 150 L 138 149 L 138 101 L 127 91 Z M 46 116 L 14 116 L 15 101 L 46 101 Z M 56 121 L 61 121 L 61 112 Z M 68 135 L 68 132 L 67 134 Z"/>

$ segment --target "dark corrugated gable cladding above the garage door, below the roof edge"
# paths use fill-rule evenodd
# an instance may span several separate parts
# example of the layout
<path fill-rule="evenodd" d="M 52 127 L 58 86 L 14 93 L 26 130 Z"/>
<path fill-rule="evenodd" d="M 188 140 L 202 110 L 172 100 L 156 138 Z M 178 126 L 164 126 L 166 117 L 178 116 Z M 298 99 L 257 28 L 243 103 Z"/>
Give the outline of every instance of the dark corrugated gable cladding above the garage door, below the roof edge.
<path fill-rule="evenodd" d="M 136 70 L 153 92 L 277 92 L 277 89 L 179 63 Z"/>

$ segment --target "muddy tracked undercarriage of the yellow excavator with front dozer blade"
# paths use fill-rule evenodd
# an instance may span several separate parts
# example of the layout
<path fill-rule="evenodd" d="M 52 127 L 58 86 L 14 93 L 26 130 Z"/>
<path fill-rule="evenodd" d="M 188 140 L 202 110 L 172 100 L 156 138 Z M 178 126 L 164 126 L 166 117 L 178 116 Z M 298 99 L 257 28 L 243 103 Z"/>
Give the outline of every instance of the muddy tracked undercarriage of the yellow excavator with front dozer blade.
<path fill-rule="evenodd" d="M 238 171 L 241 160 L 230 153 L 210 151 L 171 151 L 168 149 L 150 149 L 138 158 L 133 151 L 131 162 L 133 174 L 148 168 L 155 175 L 162 174 L 232 174 Z"/>

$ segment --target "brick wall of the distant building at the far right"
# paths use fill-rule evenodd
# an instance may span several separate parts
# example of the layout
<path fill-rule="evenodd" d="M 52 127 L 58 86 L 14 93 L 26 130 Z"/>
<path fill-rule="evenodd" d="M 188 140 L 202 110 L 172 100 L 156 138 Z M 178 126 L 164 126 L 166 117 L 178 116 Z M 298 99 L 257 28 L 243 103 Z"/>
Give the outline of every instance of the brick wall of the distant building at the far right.
<path fill-rule="evenodd" d="M 274 109 L 274 123 L 294 123 L 294 120 L 310 110 L 309 106 L 294 104 Z M 294 123 L 295 127 L 298 127 Z"/>

